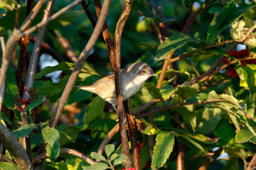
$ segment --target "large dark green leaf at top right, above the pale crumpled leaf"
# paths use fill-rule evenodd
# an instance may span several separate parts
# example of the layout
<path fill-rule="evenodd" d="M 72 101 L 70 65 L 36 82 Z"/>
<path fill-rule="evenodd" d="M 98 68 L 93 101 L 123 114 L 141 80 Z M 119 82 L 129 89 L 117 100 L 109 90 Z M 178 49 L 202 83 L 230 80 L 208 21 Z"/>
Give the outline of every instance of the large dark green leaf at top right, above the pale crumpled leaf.
<path fill-rule="evenodd" d="M 223 7 L 222 12 L 210 23 L 207 34 L 208 43 L 214 42 L 214 40 L 218 37 L 218 34 L 224 28 L 230 26 L 230 24 L 234 23 L 235 21 L 238 21 L 240 16 L 242 16 L 245 11 L 248 11 L 250 8 L 254 8 L 255 6 L 255 2 L 251 2 L 236 8 L 235 1 L 229 0 Z"/>

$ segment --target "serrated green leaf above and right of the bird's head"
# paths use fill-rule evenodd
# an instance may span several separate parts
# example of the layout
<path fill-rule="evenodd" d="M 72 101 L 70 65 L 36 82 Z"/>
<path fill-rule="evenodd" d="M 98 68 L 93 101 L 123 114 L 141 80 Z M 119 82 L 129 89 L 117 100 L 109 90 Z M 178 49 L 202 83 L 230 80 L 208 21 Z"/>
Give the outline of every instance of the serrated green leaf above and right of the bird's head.
<path fill-rule="evenodd" d="M 164 60 L 171 52 L 174 52 L 179 47 L 186 45 L 188 42 L 196 42 L 198 43 L 199 40 L 197 38 L 190 37 L 186 34 L 180 33 L 178 31 L 174 32 L 171 35 L 171 38 L 165 40 L 164 42 L 159 45 L 157 49 L 156 57 L 158 60 Z"/>

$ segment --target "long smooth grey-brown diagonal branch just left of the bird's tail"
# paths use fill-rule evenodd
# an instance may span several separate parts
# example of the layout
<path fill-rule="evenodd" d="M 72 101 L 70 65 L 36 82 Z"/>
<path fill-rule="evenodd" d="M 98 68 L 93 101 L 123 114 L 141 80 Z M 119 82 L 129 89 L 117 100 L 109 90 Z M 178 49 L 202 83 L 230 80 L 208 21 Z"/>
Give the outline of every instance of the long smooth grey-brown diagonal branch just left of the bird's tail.
<path fill-rule="evenodd" d="M 92 36 L 90 37 L 90 40 L 87 42 L 87 45 L 85 46 L 84 50 L 82 50 L 82 52 L 79 56 L 78 62 L 75 64 L 73 72 L 70 75 L 70 78 L 68 79 L 68 83 L 65 86 L 62 96 L 60 97 L 58 106 L 55 108 L 53 117 L 50 119 L 50 127 L 51 128 L 54 128 L 55 125 L 58 123 L 61 112 L 63 111 L 65 103 L 68 101 L 68 96 L 70 95 L 72 87 L 75 84 L 75 79 L 78 78 L 78 74 L 82 69 L 82 65 L 85 63 L 85 60 L 87 59 L 90 50 L 92 50 L 92 47 L 95 45 L 95 42 L 97 41 L 97 38 L 100 35 L 100 30 L 102 30 L 102 26 L 107 17 L 107 11 L 109 9 L 109 6 L 110 6 L 110 0 L 105 0 L 103 3 L 103 6 L 102 6 L 102 11 L 100 13 L 100 17 L 97 21 L 95 29 L 93 30 Z"/>

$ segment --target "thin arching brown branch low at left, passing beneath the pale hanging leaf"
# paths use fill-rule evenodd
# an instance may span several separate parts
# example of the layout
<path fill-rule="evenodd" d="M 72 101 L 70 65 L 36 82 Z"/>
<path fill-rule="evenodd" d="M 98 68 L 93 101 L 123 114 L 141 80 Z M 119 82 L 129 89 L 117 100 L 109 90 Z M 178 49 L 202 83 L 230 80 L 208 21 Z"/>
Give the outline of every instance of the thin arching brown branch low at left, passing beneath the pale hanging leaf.
<path fill-rule="evenodd" d="M 68 148 L 60 148 L 60 154 L 73 154 L 77 157 L 80 157 L 80 159 L 83 159 L 88 164 L 96 164 L 96 162 L 92 161 L 89 157 L 87 157 L 85 154 L 82 154 L 81 152 L 78 152 L 75 149 L 68 149 Z M 33 157 L 32 164 L 39 164 L 43 162 L 44 159 L 47 159 L 50 157 L 47 153 L 39 154 L 36 157 Z"/>

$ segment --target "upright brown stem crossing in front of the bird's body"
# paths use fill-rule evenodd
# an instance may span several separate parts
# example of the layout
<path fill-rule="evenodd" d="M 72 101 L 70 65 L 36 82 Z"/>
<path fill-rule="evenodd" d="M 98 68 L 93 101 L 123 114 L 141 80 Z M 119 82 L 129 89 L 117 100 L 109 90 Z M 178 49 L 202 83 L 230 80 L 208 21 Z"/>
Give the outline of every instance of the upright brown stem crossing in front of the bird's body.
<path fill-rule="evenodd" d="M 122 12 L 119 21 L 117 22 L 117 27 L 114 33 L 114 85 L 116 89 L 116 96 L 117 96 L 117 113 L 118 113 L 118 119 L 119 119 L 119 128 L 121 132 L 121 141 L 122 141 L 122 149 L 123 153 L 127 157 L 127 160 L 124 162 L 124 166 L 126 169 L 132 168 L 132 162 L 131 157 L 129 154 L 129 145 L 128 145 L 128 137 L 126 132 L 126 126 L 125 126 L 125 115 L 122 108 L 122 89 L 121 89 L 121 79 L 120 79 L 120 50 L 121 50 L 121 35 L 122 30 L 124 29 L 124 24 L 127 21 L 127 18 L 129 16 L 129 13 L 132 8 L 132 0 L 125 1 L 126 5 L 124 6 L 124 11 Z"/>

